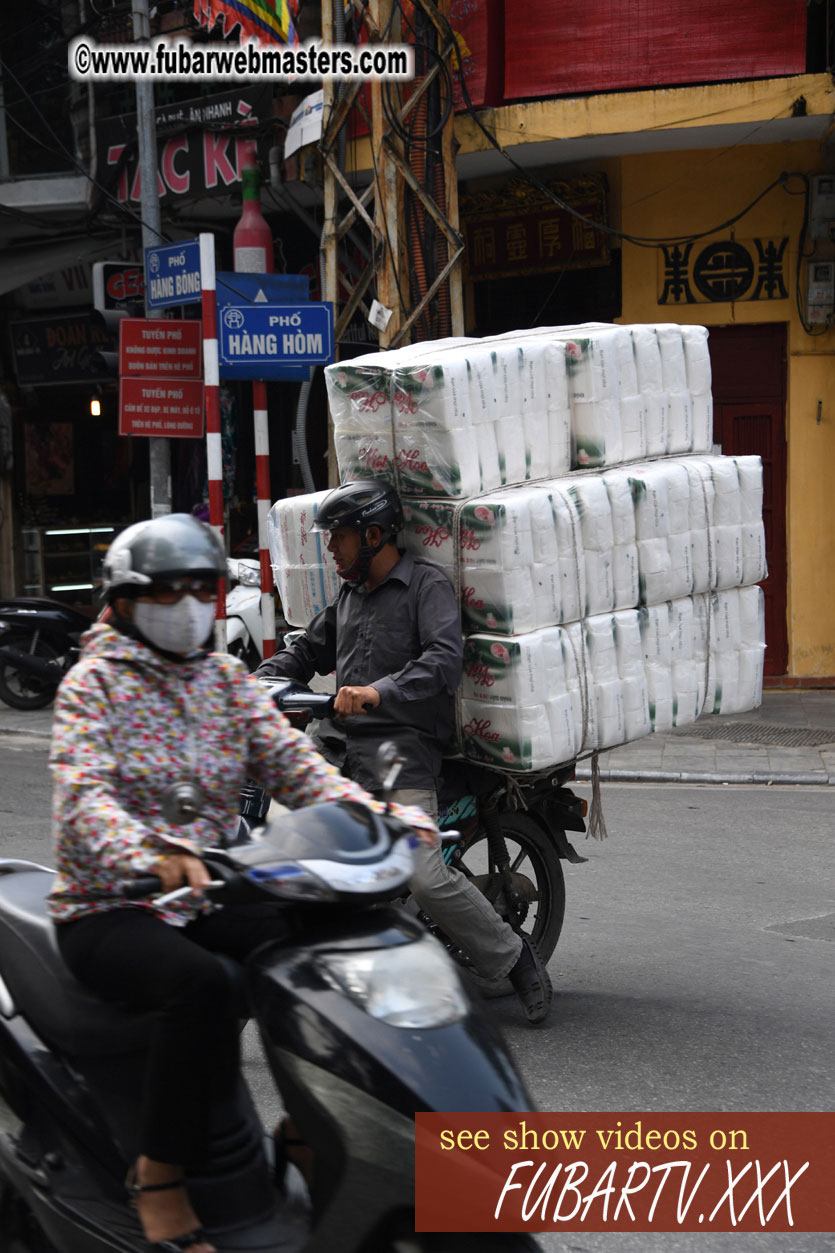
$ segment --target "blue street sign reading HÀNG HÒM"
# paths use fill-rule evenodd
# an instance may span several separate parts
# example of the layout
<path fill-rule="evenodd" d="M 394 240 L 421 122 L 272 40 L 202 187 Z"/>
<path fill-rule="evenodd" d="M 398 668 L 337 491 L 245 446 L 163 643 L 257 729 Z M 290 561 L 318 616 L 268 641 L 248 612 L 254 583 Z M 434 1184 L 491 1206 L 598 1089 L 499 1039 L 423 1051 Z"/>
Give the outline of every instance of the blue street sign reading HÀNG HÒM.
<path fill-rule="evenodd" d="M 306 377 L 307 367 L 333 360 L 333 306 L 327 302 L 224 304 L 217 323 L 222 378 L 286 378 L 273 371 L 298 366 Z"/>

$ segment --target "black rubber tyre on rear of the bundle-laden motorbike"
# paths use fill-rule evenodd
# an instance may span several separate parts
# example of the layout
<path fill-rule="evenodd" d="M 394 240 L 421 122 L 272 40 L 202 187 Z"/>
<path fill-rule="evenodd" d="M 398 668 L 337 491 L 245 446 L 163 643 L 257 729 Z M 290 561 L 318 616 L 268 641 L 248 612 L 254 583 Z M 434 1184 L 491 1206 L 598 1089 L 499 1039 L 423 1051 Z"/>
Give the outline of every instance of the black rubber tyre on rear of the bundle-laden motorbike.
<path fill-rule="evenodd" d="M 565 917 L 565 878 L 557 848 L 538 822 L 527 813 L 503 813 L 499 817 L 512 868 L 529 880 L 538 900 L 530 902 L 524 916 L 499 910 L 514 931 L 528 937 L 539 950 L 544 962 L 552 957 Z M 460 860 L 453 865 L 470 878 L 484 875 L 486 866 L 486 832 L 476 828 L 461 846 Z M 534 908 L 535 906 L 535 908 Z M 468 971 L 483 996 L 510 996 L 509 979 L 486 980 Z"/>

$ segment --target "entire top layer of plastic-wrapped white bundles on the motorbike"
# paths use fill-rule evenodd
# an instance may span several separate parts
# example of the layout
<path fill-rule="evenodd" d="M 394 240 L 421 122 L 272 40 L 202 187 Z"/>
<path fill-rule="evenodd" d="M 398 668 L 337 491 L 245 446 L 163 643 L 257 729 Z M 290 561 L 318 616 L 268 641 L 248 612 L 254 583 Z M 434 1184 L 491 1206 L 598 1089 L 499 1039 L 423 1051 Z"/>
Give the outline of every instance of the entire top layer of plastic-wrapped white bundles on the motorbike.
<path fill-rule="evenodd" d="M 345 479 L 460 500 L 647 456 L 708 452 L 707 332 L 514 331 L 369 353 L 325 371 Z"/>

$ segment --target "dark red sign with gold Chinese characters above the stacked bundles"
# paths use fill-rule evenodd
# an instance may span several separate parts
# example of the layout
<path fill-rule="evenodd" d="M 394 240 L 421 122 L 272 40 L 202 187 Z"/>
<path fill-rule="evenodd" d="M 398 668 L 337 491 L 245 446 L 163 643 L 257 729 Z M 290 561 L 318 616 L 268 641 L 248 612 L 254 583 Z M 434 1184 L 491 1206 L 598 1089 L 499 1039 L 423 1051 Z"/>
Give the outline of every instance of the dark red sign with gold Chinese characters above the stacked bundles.
<path fill-rule="evenodd" d="M 557 199 L 524 179 L 461 197 L 469 278 L 608 264 L 608 237 L 594 228 L 607 222 L 604 179 L 584 175 L 548 188 Z"/>

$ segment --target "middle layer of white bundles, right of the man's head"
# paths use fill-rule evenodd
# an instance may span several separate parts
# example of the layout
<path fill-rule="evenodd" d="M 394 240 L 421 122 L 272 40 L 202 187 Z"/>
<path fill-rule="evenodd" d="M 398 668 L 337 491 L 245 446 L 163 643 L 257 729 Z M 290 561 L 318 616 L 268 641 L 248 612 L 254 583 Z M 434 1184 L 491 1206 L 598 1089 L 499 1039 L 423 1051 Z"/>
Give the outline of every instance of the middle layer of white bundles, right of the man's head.
<path fill-rule="evenodd" d="M 404 538 L 458 578 L 465 630 L 518 635 L 759 581 L 761 492 L 759 457 L 667 457 L 460 506 L 406 501 Z"/>

